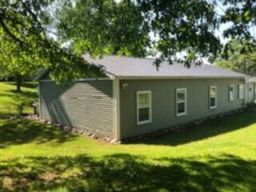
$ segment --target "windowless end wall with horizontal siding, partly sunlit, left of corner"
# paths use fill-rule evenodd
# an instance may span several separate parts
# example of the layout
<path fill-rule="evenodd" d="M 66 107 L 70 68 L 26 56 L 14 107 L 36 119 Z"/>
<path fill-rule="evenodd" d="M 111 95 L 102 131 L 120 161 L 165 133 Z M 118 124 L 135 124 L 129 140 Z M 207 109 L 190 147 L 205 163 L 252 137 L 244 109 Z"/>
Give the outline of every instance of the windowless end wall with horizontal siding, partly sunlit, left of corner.
<path fill-rule="evenodd" d="M 39 82 L 42 118 L 114 138 L 113 82 L 79 81 L 69 86 Z"/>

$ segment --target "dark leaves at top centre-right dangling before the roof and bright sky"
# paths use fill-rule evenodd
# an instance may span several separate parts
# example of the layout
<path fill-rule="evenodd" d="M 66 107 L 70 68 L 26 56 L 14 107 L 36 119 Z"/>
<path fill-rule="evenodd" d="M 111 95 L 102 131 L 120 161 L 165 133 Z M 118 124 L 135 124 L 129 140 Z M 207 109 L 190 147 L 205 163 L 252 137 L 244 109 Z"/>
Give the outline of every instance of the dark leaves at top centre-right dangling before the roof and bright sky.
<path fill-rule="evenodd" d="M 159 37 L 154 44 L 161 61 L 172 60 L 180 52 L 188 54 L 190 62 L 197 56 L 213 57 L 221 47 L 214 36 L 218 28 L 214 4 L 199 0 L 141 0 L 138 5 L 150 21 L 150 30 Z M 197 54 L 190 54 L 194 52 Z"/>

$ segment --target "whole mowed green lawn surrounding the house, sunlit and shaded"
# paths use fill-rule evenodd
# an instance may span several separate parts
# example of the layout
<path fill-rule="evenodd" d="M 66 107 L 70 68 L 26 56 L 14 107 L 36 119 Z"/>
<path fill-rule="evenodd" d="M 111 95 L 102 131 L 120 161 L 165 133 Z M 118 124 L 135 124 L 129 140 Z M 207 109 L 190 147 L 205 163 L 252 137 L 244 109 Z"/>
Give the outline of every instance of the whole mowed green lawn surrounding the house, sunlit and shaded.
<path fill-rule="evenodd" d="M 31 102 L 35 86 L 25 86 L 22 95 Z M 17 104 L 14 89 L 0 83 L 0 108 Z M 0 110 L 0 191 L 256 190 L 254 110 L 122 145 L 10 120 L 9 112 Z"/>

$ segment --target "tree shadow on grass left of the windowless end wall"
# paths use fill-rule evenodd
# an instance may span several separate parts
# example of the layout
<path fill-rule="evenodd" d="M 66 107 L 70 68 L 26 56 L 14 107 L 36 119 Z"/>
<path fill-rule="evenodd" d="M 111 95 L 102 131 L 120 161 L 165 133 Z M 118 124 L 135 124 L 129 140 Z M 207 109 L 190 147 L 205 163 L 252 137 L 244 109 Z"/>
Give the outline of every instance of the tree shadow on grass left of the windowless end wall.
<path fill-rule="evenodd" d="M 77 136 L 27 119 L 2 120 L 0 122 L 0 149 L 8 146 L 36 142 L 56 144 L 73 140 Z"/>

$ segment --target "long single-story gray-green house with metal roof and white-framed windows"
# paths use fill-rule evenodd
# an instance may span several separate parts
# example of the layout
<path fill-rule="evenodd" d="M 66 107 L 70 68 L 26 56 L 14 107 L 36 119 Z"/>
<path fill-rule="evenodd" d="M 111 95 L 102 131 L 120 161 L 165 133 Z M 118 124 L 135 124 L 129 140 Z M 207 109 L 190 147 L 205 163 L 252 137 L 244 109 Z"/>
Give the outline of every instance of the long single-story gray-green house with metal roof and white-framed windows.
<path fill-rule="evenodd" d="M 191 122 L 246 105 L 246 78 L 230 70 L 154 59 L 106 56 L 86 61 L 104 66 L 106 78 L 56 86 L 38 75 L 40 117 L 116 141 Z"/>

